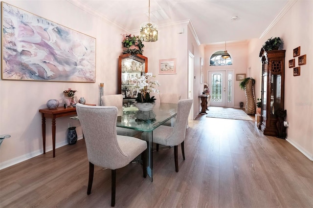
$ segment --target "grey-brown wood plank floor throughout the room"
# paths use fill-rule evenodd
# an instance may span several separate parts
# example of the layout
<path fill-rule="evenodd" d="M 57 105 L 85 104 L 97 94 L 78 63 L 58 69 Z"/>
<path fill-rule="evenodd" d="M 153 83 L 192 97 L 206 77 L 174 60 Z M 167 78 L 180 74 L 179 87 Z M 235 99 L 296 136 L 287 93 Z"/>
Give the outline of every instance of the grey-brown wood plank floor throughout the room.
<path fill-rule="evenodd" d="M 312 208 L 313 162 L 287 141 L 264 136 L 254 122 L 206 118 L 189 122 L 179 146 L 154 152 L 154 180 L 138 163 L 116 171 L 115 207 Z M 95 166 L 91 194 L 84 140 L 0 170 L 0 207 L 111 206 L 111 171 Z"/>

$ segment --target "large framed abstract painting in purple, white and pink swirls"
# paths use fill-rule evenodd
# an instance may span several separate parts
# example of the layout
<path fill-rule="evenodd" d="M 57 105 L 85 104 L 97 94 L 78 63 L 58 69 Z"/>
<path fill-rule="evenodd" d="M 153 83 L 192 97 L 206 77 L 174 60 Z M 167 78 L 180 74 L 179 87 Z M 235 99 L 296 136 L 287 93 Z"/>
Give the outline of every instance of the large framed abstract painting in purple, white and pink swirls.
<path fill-rule="evenodd" d="M 1 8 L 3 80 L 95 82 L 95 38 L 3 1 Z"/>

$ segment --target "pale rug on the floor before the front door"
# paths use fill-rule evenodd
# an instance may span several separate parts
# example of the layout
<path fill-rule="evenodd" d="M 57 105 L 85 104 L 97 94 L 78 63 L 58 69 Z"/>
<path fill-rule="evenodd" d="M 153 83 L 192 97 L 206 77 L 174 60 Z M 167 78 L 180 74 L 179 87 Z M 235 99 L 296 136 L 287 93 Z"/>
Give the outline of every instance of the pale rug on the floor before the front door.
<path fill-rule="evenodd" d="M 208 109 L 209 110 L 206 111 L 206 117 L 253 121 L 253 119 L 242 109 L 214 106 L 210 106 Z"/>

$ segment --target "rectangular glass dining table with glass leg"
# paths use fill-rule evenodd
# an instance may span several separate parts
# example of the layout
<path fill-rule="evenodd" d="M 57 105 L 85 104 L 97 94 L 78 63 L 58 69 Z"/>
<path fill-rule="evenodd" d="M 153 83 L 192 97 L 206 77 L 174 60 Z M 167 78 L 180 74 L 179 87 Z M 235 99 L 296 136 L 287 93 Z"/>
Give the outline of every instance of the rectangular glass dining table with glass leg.
<path fill-rule="evenodd" d="M 178 104 L 156 103 L 150 111 L 140 111 L 136 107 L 123 107 L 123 115 L 117 117 L 116 126 L 149 132 L 147 174 L 153 180 L 153 130 L 177 114 Z"/>

